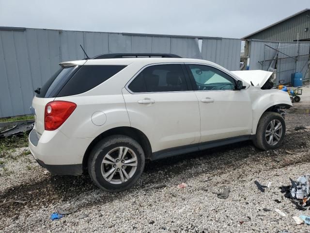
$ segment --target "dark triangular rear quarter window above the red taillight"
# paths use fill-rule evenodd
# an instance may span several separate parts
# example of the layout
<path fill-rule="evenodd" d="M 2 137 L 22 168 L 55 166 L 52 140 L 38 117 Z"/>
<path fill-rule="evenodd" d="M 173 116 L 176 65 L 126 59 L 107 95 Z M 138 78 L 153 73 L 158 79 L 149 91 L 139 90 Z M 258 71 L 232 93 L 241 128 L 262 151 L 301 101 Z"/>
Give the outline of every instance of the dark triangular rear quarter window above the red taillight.
<path fill-rule="evenodd" d="M 107 81 L 126 66 L 82 66 L 77 73 L 63 86 L 57 97 L 73 96 L 86 92 Z"/>

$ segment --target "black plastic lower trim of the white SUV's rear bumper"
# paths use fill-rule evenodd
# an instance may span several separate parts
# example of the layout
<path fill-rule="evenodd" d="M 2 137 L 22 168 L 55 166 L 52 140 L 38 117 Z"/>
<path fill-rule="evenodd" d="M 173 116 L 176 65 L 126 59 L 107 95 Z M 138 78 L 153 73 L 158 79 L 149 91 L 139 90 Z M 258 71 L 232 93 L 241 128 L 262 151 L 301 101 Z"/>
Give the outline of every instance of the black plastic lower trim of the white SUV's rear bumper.
<path fill-rule="evenodd" d="M 71 165 L 46 165 L 43 161 L 36 160 L 39 165 L 46 168 L 50 173 L 56 175 L 72 175 L 79 176 L 82 174 L 81 164 L 71 164 Z"/>

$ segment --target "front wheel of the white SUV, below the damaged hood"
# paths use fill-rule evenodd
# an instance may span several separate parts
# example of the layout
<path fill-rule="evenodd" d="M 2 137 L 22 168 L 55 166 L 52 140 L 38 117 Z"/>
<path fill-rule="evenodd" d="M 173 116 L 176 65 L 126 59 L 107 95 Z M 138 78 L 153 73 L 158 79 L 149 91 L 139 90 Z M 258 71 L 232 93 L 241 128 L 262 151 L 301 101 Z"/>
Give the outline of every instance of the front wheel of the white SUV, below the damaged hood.
<path fill-rule="evenodd" d="M 272 129 L 273 125 L 274 129 Z M 284 118 L 279 113 L 265 112 L 258 122 L 253 143 L 261 150 L 279 148 L 284 140 L 285 129 Z"/>

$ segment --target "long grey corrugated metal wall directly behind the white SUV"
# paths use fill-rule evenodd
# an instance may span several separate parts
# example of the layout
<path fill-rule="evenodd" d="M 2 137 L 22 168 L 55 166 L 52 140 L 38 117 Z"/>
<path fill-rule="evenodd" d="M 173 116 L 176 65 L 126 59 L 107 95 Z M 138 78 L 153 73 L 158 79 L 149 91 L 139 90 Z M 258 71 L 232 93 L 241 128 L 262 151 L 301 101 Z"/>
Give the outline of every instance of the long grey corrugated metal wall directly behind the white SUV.
<path fill-rule="evenodd" d="M 199 39 L 202 39 L 202 52 Z M 213 61 L 238 70 L 240 39 L 218 37 L 97 33 L 44 29 L 0 29 L 0 117 L 30 114 L 33 90 L 42 86 L 62 61 L 103 53 L 174 53 Z"/>

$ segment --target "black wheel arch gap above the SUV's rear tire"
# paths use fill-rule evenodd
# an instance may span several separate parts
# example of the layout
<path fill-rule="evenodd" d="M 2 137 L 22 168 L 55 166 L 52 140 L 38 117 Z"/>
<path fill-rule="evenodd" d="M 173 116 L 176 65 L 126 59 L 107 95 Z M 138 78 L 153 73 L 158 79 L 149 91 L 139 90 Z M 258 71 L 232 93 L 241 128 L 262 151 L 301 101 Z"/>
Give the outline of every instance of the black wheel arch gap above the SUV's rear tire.
<path fill-rule="evenodd" d="M 122 134 L 122 135 L 135 139 L 141 145 L 144 151 L 144 154 L 145 154 L 145 159 L 151 158 L 152 147 L 151 147 L 149 139 L 143 132 L 141 132 L 140 130 L 136 128 L 129 127 L 129 126 L 116 127 L 116 128 L 109 129 L 103 133 L 100 133 L 97 137 L 93 139 L 93 141 L 87 147 L 84 153 L 84 156 L 83 156 L 83 162 L 82 162 L 83 170 L 86 170 L 87 168 L 87 161 L 88 161 L 90 152 L 93 149 L 94 145 L 96 145 L 97 142 L 99 142 L 101 139 L 107 136 L 116 135 L 116 134 Z"/>

